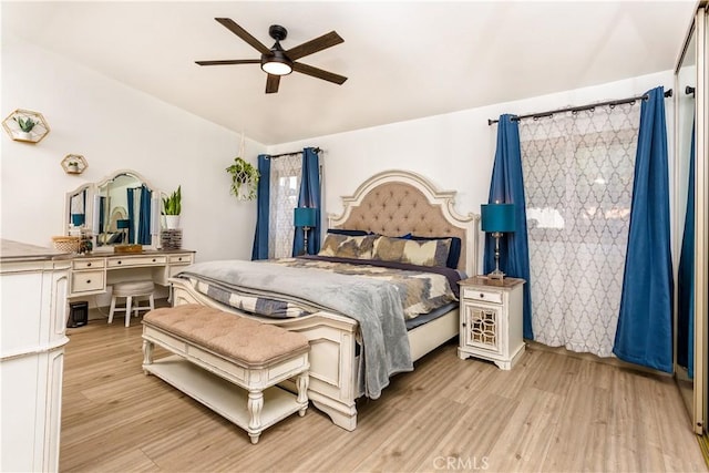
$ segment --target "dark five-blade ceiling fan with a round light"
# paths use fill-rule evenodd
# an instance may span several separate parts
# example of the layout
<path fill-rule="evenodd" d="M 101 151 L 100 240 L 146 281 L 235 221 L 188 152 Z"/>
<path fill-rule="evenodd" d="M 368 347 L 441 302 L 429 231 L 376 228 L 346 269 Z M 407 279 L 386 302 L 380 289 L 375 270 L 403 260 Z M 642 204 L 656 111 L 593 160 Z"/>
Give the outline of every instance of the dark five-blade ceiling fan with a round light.
<path fill-rule="evenodd" d="M 244 28 L 239 27 L 230 18 L 215 18 L 226 29 L 234 34 L 249 43 L 258 52 L 261 53 L 260 59 L 232 59 L 232 60 L 217 60 L 217 61 L 195 61 L 199 65 L 226 65 L 226 64 L 261 64 L 264 72 L 268 74 L 266 79 L 266 93 L 278 92 L 278 85 L 280 84 L 280 76 L 290 74 L 292 71 L 300 72 L 301 74 L 311 75 L 323 81 L 333 82 L 336 84 L 342 84 L 347 81 L 343 75 L 335 74 L 332 72 L 323 71 L 322 69 L 314 68 L 312 65 L 297 62 L 298 59 L 309 54 L 314 54 L 323 49 L 331 48 L 336 44 L 345 42 L 342 38 L 335 31 L 330 31 L 327 34 L 322 34 L 314 40 L 306 41 L 305 43 L 284 50 L 280 45 L 280 41 L 285 40 L 288 35 L 288 30 L 279 24 L 273 24 L 268 29 L 268 34 L 276 40 L 273 48 L 268 49 L 264 43 L 250 35 Z"/>

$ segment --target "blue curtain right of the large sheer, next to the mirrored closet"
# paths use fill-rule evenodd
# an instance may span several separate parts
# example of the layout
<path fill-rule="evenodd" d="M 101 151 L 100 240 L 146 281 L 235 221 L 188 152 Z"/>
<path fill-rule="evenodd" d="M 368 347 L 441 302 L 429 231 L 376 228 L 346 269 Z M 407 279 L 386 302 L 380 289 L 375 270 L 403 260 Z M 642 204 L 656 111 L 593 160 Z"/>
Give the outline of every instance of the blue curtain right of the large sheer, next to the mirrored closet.
<path fill-rule="evenodd" d="M 672 372 L 672 261 L 662 88 L 640 109 L 628 250 L 613 352 Z"/>

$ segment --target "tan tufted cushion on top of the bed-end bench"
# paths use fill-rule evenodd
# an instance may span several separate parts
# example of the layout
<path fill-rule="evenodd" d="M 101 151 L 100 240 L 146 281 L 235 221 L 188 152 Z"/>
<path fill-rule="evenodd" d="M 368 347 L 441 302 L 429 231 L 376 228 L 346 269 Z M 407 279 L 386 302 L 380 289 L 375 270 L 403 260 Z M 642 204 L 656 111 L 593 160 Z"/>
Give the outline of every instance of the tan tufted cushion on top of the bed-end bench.
<path fill-rule="evenodd" d="M 151 310 L 143 323 L 251 366 L 309 349 L 300 333 L 194 304 Z"/>

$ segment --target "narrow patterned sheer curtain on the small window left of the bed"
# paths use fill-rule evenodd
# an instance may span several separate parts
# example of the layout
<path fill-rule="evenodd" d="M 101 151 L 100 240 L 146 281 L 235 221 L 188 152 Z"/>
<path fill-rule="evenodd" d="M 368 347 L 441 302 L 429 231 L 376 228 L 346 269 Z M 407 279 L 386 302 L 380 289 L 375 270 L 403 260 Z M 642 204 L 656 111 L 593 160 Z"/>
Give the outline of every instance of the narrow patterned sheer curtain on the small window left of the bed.
<path fill-rule="evenodd" d="M 270 163 L 268 258 L 292 255 L 292 209 L 298 206 L 302 156 L 280 156 Z"/>

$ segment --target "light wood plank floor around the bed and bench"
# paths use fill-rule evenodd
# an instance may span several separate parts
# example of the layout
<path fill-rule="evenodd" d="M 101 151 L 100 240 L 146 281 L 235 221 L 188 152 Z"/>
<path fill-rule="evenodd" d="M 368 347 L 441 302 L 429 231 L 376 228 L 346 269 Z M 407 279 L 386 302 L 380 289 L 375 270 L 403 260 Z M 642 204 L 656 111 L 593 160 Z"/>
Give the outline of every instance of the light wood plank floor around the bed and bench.
<path fill-rule="evenodd" d="M 671 379 L 534 348 L 501 371 L 441 347 L 361 402 L 354 432 L 311 407 L 251 445 L 143 374 L 141 330 L 68 330 L 61 471 L 707 471 Z"/>

